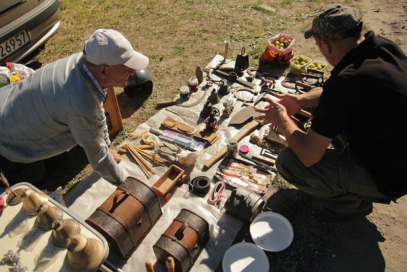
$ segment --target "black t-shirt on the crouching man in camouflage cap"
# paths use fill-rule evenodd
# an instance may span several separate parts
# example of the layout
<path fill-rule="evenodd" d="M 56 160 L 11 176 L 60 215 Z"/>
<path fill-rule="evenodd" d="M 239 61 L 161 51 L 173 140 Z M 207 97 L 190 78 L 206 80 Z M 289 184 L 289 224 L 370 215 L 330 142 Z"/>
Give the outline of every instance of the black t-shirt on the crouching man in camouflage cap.
<path fill-rule="evenodd" d="M 311 128 L 327 138 L 346 132 L 379 191 L 407 194 L 407 57 L 370 31 L 326 80 Z"/>

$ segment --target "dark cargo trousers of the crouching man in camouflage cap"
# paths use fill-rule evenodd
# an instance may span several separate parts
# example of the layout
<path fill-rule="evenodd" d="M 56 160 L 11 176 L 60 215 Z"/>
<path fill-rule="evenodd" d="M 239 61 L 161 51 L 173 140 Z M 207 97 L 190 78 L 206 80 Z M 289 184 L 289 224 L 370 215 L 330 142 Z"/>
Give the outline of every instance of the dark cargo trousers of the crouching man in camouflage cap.
<path fill-rule="evenodd" d="M 353 213 L 362 199 L 390 204 L 390 198 L 377 192 L 368 167 L 347 147 L 328 149 L 315 165 L 305 167 L 286 147 L 276 159 L 280 175 L 311 195 L 317 202 L 337 213 Z"/>

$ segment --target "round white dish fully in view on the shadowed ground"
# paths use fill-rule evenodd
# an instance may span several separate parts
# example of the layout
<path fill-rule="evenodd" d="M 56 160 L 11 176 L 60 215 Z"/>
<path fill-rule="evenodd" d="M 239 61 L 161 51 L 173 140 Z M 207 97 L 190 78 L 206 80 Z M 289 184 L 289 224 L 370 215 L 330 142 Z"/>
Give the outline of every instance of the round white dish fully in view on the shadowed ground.
<path fill-rule="evenodd" d="M 261 249 L 279 252 L 288 248 L 294 238 L 293 227 L 279 213 L 267 211 L 250 224 L 250 236 Z"/>

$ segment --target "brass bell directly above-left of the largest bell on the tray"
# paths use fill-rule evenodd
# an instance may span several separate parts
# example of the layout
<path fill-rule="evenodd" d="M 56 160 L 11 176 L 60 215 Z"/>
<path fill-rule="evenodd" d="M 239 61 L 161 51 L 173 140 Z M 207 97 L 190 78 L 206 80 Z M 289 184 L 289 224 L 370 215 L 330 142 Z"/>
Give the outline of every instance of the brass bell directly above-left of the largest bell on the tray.
<path fill-rule="evenodd" d="M 68 238 L 80 233 L 80 224 L 74 219 L 59 219 L 52 223 L 51 240 L 55 246 L 65 248 Z"/>

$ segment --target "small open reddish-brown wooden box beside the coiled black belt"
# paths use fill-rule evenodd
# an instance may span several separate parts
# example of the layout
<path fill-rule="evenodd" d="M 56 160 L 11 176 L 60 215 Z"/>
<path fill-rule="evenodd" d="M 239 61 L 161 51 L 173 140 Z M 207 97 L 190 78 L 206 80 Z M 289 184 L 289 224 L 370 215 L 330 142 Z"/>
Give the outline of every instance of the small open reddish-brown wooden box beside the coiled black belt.
<path fill-rule="evenodd" d="M 185 182 L 187 176 L 184 175 L 184 170 L 176 165 L 171 165 L 167 171 L 157 180 L 152 186 L 153 190 L 164 198 L 165 201 L 169 201 L 171 194 L 168 194 L 169 190 L 178 182 Z"/>

